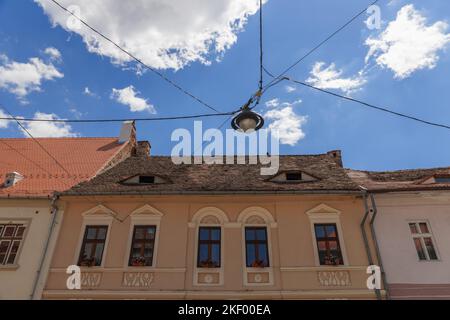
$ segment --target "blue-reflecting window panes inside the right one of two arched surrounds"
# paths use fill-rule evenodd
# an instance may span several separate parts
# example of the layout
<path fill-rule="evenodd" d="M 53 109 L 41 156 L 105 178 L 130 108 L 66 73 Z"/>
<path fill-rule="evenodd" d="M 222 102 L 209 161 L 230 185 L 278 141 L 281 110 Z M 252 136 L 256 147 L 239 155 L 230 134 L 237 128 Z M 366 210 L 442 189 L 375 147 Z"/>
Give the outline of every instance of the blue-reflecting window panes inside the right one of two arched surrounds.
<path fill-rule="evenodd" d="M 247 267 L 262 268 L 269 266 L 266 227 L 245 228 L 245 253 Z"/>

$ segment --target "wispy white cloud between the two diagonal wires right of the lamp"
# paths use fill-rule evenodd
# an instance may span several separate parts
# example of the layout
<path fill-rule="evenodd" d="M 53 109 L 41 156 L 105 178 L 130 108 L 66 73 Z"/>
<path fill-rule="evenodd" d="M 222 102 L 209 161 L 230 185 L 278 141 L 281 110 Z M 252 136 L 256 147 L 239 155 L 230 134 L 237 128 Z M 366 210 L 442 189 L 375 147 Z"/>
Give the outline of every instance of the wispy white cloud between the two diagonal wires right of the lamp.
<path fill-rule="evenodd" d="M 339 89 L 346 94 L 359 89 L 366 83 L 361 72 L 349 78 L 343 78 L 342 73 L 342 70 L 336 69 L 334 63 L 325 67 L 325 62 L 316 62 L 306 82 L 321 89 Z"/>

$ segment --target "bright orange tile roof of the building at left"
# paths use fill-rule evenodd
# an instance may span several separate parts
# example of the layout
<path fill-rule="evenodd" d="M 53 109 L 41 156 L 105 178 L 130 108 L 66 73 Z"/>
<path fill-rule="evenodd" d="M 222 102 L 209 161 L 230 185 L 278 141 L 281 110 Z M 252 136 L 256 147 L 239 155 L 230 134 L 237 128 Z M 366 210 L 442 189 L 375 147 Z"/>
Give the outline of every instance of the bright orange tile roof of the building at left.
<path fill-rule="evenodd" d="M 46 197 L 93 177 L 125 144 L 117 138 L 39 138 L 68 175 L 31 139 L 0 139 L 0 198 Z M 25 178 L 12 187 L 2 186 L 5 175 Z"/>

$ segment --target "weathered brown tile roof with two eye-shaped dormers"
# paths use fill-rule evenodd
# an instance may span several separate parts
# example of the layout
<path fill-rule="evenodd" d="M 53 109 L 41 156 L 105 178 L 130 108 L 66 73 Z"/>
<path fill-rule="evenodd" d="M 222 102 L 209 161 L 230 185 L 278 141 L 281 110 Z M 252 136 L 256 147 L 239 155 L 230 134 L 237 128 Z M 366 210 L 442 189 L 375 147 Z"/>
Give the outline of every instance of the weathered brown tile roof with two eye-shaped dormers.
<path fill-rule="evenodd" d="M 358 186 L 349 179 L 345 170 L 336 163 L 336 159 L 328 154 L 280 156 L 279 173 L 299 170 L 316 177 L 316 181 L 277 183 L 270 181 L 270 176 L 262 176 L 260 168 L 260 164 L 175 165 L 171 158 L 166 156 L 134 156 L 64 194 L 359 191 Z M 156 175 L 166 183 L 151 185 L 121 183 L 136 175 Z"/>

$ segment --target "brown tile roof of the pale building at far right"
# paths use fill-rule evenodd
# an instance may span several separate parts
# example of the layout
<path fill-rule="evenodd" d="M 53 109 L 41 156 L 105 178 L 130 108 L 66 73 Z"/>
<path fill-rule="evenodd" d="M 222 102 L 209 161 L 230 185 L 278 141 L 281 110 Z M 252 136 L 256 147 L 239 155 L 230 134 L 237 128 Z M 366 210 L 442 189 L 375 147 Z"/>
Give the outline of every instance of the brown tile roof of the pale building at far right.
<path fill-rule="evenodd" d="M 349 177 L 370 191 L 448 190 L 449 183 L 425 183 L 432 177 L 450 177 L 450 167 L 398 171 L 359 171 L 347 169 Z"/>

